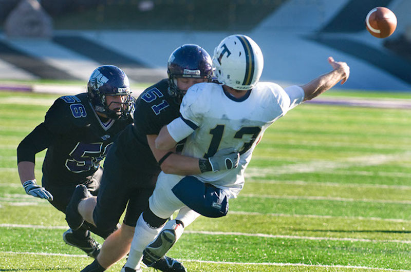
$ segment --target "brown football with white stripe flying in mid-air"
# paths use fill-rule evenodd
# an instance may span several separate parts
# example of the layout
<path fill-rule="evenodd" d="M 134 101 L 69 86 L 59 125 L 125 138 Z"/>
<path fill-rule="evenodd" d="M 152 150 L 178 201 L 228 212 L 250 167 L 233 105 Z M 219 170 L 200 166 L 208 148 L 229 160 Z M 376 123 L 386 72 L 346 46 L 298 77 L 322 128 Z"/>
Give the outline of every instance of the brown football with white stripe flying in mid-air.
<path fill-rule="evenodd" d="M 376 7 L 368 12 L 365 26 L 371 35 L 386 38 L 394 33 L 397 27 L 397 17 L 387 8 Z"/>

